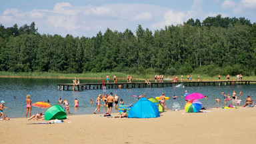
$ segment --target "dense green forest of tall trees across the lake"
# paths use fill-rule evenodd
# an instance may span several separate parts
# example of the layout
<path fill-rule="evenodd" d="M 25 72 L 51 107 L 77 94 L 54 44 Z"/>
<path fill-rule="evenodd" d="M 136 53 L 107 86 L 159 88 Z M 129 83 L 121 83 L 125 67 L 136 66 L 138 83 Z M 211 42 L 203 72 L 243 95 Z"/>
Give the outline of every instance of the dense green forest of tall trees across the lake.
<path fill-rule="evenodd" d="M 37 31 L 34 22 L 0 25 L 0 71 L 256 74 L 256 23 L 245 17 L 189 19 L 153 32 L 106 29 L 95 37 Z"/>

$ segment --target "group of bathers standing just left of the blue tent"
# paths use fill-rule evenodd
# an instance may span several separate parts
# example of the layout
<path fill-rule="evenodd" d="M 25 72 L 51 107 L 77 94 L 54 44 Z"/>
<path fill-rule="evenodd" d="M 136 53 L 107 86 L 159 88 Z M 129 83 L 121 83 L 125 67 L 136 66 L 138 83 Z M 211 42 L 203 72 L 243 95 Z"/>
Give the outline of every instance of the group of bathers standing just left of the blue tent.
<path fill-rule="evenodd" d="M 99 94 L 99 97 L 97 97 L 96 99 L 96 109 L 93 112 L 94 114 L 96 114 L 96 112 L 98 111 L 98 114 L 100 113 L 99 110 L 101 108 L 101 101 L 103 101 L 104 105 L 103 107 L 108 107 L 107 109 L 107 113 L 111 114 L 112 108 L 118 108 L 118 104 L 120 105 L 124 105 L 125 103 L 123 102 L 123 99 L 120 99 L 119 102 L 119 97 L 117 96 L 117 94 L 115 94 L 115 97 L 113 97 L 113 93 L 109 93 L 109 95 L 101 95 Z M 93 103 L 93 99 L 91 99 L 91 103 Z M 114 105 L 113 105 L 114 103 Z"/>

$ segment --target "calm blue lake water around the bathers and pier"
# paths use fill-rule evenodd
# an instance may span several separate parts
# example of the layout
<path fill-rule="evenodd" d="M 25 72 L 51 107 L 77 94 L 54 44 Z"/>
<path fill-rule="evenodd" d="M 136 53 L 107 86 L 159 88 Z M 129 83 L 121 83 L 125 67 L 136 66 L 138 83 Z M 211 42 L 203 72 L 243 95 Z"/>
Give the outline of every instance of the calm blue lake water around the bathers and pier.
<path fill-rule="evenodd" d="M 72 83 L 71 79 L 21 79 L 21 78 L 0 78 L 0 101 L 5 101 L 4 109 L 5 115 L 8 117 L 25 117 L 26 113 L 26 95 L 31 95 L 32 103 L 37 101 L 47 101 L 49 99 L 51 105 L 57 105 L 59 97 L 61 99 L 67 99 L 69 102 L 71 115 L 75 114 L 89 114 L 93 113 L 96 108 L 95 104 L 90 103 L 90 99 L 95 99 L 99 94 L 103 94 L 102 89 L 92 89 L 84 91 L 58 91 L 57 83 Z M 100 82 L 100 80 L 81 80 L 80 83 L 88 82 Z M 203 87 L 159 87 L 159 88 L 135 88 L 135 89 L 107 89 L 106 93 L 112 92 L 117 94 L 119 99 L 123 99 L 125 105 L 137 102 L 137 97 L 132 95 L 146 94 L 147 97 L 158 97 L 161 93 L 165 93 L 165 96 L 172 97 L 173 95 L 179 96 L 176 100 L 170 99 L 166 101 L 167 109 L 171 109 L 173 102 L 179 102 L 181 108 L 185 106 L 185 100 L 182 95 L 187 90 L 189 93 L 202 93 L 209 96 L 209 99 L 201 99 L 203 107 L 222 107 L 223 95 L 221 91 L 225 91 L 227 94 L 232 94 L 233 90 L 239 95 L 239 91 L 242 91 L 242 103 L 244 103 L 246 96 L 251 95 L 252 99 L 256 96 L 256 85 L 235 85 L 235 86 L 203 86 Z M 16 97 L 16 99 L 13 99 Z M 221 99 L 221 103 L 216 103 L 214 99 Z M 74 109 L 74 100 L 79 100 L 79 109 Z M 41 108 L 32 107 L 32 115 L 42 111 Z M 46 109 L 44 109 L 46 111 Z M 117 112 L 117 110 L 115 110 Z M 101 113 L 106 113 L 107 108 L 101 107 Z"/>

